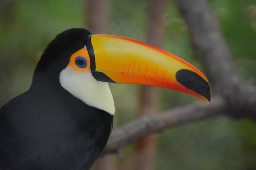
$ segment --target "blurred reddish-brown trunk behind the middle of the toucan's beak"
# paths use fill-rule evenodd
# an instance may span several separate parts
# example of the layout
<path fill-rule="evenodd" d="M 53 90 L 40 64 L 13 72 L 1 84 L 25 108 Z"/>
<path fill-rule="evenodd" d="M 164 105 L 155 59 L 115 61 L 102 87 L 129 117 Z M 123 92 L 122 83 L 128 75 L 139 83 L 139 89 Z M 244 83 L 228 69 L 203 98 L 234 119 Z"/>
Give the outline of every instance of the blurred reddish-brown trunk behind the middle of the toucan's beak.
<path fill-rule="evenodd" d="M 164 35 L 164 5 L 165 0 L 150 0 L 148 7 L 148 26 L 146 42 L 157 47 L 162 46 Z M 153 86 L 140 86 L 138 117 L 157 113 L 158 89 Z M 149 135 L 136 144 L 133 158 L 134 170 L 152 170 L 156 135 Z"/>

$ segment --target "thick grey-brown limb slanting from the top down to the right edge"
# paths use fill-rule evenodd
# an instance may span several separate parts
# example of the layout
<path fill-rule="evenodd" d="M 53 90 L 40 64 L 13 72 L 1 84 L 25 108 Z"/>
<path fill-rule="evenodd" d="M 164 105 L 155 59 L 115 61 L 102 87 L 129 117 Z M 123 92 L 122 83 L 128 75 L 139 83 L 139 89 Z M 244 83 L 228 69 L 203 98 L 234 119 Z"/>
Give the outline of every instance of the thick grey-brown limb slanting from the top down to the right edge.
<path fill-rule="evenodd" d="M 240 77 L 220 26 L 206 0 L 175 0 L 189 29 L 195 54 L 231 117 L 256 120 L 256 89 Z"/>

